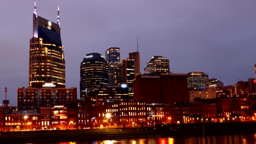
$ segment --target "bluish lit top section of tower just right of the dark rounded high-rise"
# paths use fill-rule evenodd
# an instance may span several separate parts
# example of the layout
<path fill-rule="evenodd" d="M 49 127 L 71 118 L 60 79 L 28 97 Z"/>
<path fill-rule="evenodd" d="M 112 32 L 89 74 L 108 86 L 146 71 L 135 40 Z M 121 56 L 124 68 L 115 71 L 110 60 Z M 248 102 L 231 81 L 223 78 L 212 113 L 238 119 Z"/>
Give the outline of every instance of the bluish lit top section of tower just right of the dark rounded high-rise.
<path fill-rule="evenodd" d="M 110 47 L 107 49 L 105 57 L 107 63 L 120 63 L 120 48 Z"/>

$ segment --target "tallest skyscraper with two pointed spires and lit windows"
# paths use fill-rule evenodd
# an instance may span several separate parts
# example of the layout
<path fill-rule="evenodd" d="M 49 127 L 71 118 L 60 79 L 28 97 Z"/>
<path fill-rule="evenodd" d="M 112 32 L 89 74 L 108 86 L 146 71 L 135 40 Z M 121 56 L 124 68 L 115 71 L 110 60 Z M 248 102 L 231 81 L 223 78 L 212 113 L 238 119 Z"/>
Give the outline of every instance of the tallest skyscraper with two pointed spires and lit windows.
<path fill-rule="evenodd" d="M 65 57 L 61 42 L 60 10 L 57 23 L 33 12 L 33 37 L 30 39 L 29 86 L 35 82 L 53 82 L 65 87 Z"/>

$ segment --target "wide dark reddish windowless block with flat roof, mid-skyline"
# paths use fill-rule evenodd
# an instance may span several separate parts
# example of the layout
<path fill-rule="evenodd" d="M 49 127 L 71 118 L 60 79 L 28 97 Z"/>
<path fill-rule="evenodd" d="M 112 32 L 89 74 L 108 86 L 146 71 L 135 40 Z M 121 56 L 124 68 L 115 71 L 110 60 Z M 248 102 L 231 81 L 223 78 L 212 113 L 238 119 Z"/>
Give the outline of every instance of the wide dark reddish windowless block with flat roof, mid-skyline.
<path fill-rule="evenodd" d="M 188 101 L 186 74 L 136 75 L 135 99 L 145 103 L 173 104 Z"/>

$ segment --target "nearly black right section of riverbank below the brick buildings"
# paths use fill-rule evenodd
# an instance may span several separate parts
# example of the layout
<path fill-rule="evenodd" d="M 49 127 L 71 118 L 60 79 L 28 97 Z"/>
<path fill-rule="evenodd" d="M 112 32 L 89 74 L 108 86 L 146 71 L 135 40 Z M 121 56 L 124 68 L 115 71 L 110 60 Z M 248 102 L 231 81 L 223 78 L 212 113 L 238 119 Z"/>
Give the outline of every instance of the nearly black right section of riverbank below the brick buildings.
<path fill-rule="evenodd" d="M 158 124 L 162 136 L 212 136 L 255 134 L 256 122 Z"/>

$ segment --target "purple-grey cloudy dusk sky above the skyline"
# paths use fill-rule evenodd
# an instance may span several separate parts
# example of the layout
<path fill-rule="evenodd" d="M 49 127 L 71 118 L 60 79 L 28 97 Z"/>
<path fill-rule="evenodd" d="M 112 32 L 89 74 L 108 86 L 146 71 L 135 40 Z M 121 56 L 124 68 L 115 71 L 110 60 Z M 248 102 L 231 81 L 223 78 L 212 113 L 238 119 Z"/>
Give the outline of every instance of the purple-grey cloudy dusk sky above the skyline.
<path fill-rule="evenodd" d="M 33 4 L 0 2 L 0 101 L 7 84 L 11 105 L 17 104 L 16 89 L 28 86 Z M 137 49 L 136 37 L 142 70 L 157 55 L 170 59 L 173 73 L 203 71 L 224 85 L 254 78 L 255 0 L 41 0 L 38 15 L 56 22 L 57 4 L 67 87 L 79 88 L 86 53 L 104 55 L 109 47 L 120 47 L 121 59 L 127 58 Z"/>

